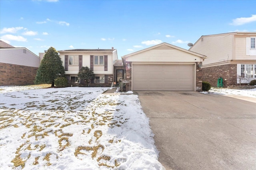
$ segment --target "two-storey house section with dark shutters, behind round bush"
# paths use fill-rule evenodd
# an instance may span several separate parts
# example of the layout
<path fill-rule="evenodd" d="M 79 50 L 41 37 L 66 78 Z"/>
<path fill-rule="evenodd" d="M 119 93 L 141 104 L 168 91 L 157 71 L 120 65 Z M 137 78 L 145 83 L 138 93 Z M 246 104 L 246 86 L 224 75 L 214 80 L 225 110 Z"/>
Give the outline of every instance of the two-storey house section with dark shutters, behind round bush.
<path fill-rule="evenodd" d="M 111 86 L 114 78 L 114 62 L 118 59 L 117 50 L 112 49 L 72 49 L 58 51 L 65 75 L 70 84 L 86 84 L 77 74 L 82 66 L 93 70 L 95 79 L 91 86 Z"/>

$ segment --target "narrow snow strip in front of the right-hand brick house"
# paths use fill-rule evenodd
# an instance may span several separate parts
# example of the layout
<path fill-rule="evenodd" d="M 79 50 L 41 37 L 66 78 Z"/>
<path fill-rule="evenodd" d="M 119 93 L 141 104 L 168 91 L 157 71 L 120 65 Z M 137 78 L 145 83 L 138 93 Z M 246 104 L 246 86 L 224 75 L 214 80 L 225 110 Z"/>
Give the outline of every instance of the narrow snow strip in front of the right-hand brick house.
<path fill-rule="evenodd" d="M 201 92 L 204 94 L 220 94 L 220 95 L 238 95 L 238 96 L 247 96 L 251 98 L 256 98 L 256 88 L 249 90 L 236 90 L 228 88 L 214 88 L 212 87 L 209 92 Z"/>

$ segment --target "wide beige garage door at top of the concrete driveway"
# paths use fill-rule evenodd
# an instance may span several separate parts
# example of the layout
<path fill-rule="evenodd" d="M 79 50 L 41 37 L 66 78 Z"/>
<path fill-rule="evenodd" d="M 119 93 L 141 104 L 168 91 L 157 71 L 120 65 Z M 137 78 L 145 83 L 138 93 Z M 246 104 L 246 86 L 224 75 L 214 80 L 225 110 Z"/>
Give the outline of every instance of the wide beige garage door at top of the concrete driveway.
<path fill-rule="evenodd" d="M 194 65 L 133 64 L 132 89 L 194 91 Z"/>

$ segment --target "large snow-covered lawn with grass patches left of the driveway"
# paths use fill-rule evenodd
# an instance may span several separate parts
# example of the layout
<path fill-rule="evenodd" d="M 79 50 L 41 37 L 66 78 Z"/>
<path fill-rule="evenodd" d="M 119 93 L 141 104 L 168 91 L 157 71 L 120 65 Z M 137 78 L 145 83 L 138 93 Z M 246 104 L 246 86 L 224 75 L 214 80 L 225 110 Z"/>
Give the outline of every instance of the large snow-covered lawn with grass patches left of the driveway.
<path fill-rule="evenodd" d="M 0 169 L 161 170 L 136 95 L 0 87 Z"/>

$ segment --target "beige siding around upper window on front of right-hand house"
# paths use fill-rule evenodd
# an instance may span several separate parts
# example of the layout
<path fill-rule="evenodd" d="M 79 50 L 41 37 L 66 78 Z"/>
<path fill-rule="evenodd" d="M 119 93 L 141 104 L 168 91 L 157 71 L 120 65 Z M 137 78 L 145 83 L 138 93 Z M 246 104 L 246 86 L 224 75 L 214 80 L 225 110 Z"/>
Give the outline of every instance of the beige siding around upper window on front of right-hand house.
<path fill-rule="evenodd" d="M 256 55 L 246 55 L 246 37 L 235 37 L 235 44 L 236 60 L 256 60 Z"/>

